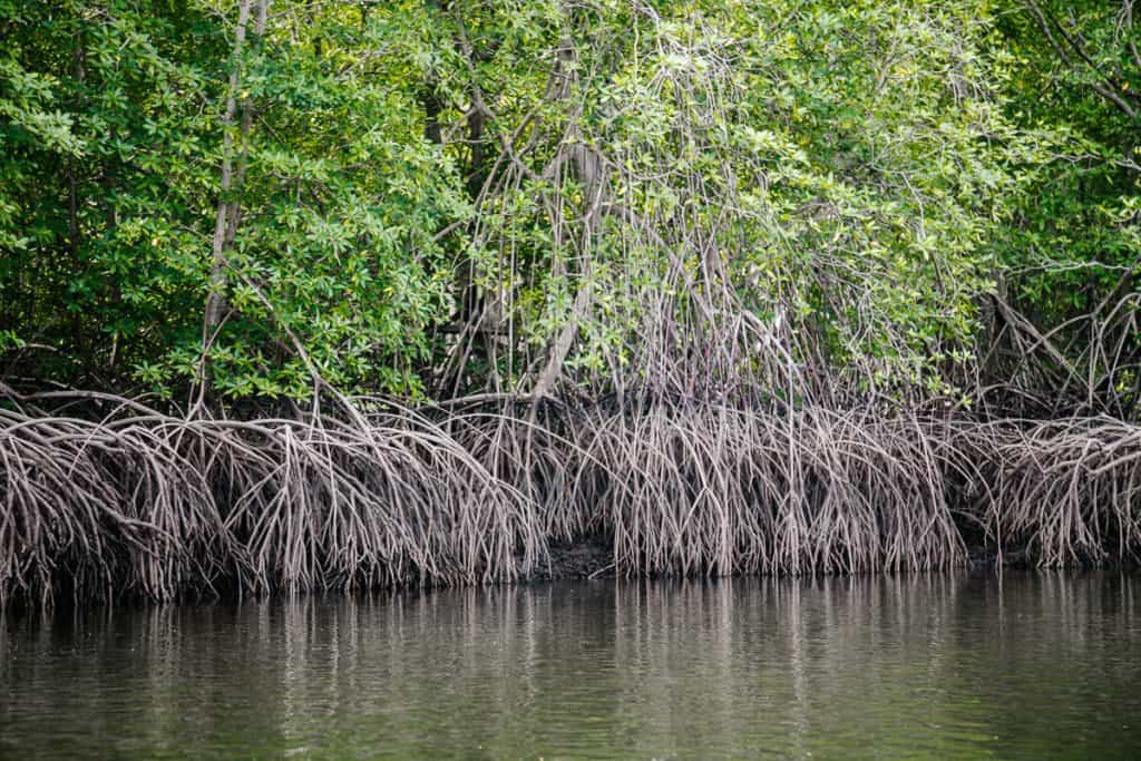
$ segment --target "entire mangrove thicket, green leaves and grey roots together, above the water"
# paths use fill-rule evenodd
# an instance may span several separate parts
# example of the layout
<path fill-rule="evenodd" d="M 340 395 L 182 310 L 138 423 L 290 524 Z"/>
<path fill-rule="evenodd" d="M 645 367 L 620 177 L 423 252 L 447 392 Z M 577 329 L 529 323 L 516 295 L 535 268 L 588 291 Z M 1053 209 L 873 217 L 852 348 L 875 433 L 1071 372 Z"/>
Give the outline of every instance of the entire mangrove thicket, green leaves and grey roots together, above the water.
<path fill-rule="evenodd" d="M 1141 550 L 1132 0 L 0 0 L 0 598 Z"/>

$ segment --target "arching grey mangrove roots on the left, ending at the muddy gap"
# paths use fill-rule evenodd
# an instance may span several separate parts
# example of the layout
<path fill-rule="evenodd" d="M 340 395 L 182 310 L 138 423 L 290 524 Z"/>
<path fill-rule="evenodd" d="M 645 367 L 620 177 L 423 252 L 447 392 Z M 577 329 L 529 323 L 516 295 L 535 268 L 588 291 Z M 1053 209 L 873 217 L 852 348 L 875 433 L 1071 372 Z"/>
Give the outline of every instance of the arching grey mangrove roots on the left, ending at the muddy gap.
<path fill-rule="evenodd" d="M 0 599 L 510 581 L 544 551 L 529 502 L 408 416 L 0 415 Z"/>

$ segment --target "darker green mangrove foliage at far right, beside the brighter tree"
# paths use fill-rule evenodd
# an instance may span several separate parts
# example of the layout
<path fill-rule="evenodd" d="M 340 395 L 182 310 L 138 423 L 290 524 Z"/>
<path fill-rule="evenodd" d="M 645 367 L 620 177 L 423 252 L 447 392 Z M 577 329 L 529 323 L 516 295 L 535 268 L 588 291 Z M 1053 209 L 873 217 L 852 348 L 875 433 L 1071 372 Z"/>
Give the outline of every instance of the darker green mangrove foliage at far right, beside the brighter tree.
<path fill-rule="evenodd" d="M 1026 1 L 997 21 L 1011 59 L 1008 111 L 1049 130 L 1052 147 L 1020 167 L 1026 193 L 992 237 L 996 297 L 1014 310 L 997 316 L 986 355 L 988 369 L 1038 375 L 1031 386 L 1124 416 L 1141 403 L 1133 6 Z"/>

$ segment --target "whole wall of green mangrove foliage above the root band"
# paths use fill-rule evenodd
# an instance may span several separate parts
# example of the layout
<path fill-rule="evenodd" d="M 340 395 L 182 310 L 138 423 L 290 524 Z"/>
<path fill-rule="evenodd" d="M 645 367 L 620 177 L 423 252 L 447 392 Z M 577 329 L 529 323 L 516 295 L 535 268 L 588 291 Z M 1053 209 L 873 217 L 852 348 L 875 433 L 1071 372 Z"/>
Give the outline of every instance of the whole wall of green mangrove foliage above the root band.
<path fill-rule="evenodd" d="M 1017 381 L 1127 416 L 1133 16 L 0 0 L 0 377 L 178 400 Z"/>

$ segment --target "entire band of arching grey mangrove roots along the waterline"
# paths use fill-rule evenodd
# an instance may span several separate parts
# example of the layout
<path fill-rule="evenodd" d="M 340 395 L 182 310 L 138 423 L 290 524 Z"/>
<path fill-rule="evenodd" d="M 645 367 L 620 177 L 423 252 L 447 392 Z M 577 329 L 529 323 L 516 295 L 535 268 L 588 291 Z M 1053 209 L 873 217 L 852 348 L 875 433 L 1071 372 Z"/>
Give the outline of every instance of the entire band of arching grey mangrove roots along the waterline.
<path fill-rule="evenodd" d="M 495 404 L 100 422 L 0 410 L 0 599 L 510 581 L 605 536 L 622 574 L 1043 565 L 1141 548 L 1141 428 L 819 407 Z"/>

